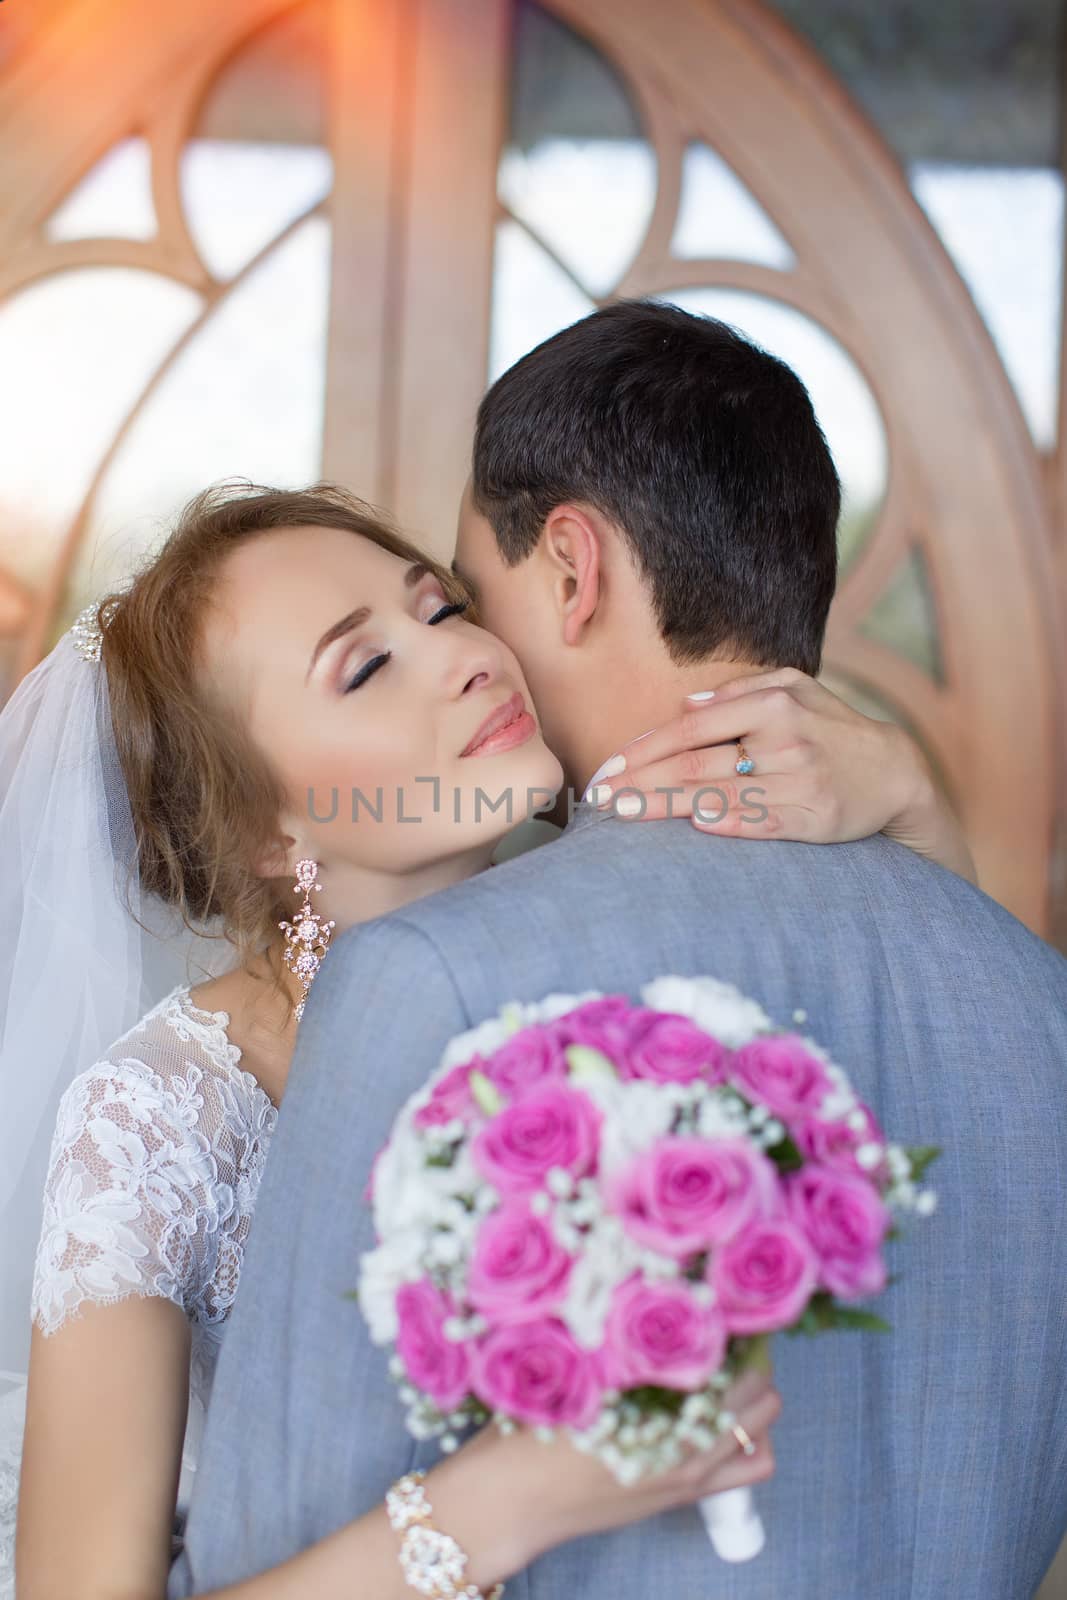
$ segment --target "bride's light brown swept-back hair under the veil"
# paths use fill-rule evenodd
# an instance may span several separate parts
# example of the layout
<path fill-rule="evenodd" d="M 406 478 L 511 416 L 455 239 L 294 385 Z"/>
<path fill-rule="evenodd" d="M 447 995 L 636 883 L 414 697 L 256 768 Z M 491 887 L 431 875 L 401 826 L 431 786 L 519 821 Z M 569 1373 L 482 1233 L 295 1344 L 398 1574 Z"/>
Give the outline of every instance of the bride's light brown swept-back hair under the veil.
<path fill-rule="evenodd" d="M 253 870 L 264 845 L 280 840 L 285 794 L 240 718 L 205 682 L 203 622 L 219 570 L 238 546 L 304 525 L 342 528 L 422 562 L 450 598 L 466 598 L 448 568 L 336 485 L 224 483 L 189 501 L 158 554 L 99 606 L 141 885 L 190 930 L 221 926 L 245 966 L 293 914 L 291 883 Z"/>

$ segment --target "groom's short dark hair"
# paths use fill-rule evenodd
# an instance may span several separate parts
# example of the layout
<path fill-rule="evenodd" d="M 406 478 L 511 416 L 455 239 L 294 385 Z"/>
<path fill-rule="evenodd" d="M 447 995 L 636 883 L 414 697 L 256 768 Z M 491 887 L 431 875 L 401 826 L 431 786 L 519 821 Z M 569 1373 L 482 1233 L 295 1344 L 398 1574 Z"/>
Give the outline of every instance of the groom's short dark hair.
<path fill-rule="evenodd" d="M 478 408 L 472 498 L 509 566 L 566 501 L 611 518 L 678 662 L 819 670 L 838 477 L 801 381 L 723 322 L 619 301 L 545 339 Z"/>

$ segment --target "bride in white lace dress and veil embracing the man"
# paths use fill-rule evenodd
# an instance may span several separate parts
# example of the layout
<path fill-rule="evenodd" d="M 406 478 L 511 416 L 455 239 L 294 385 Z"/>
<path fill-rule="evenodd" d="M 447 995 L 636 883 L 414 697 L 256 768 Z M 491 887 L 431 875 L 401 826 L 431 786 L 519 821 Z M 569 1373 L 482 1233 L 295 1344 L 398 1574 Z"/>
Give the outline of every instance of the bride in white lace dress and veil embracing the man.
<path fill-rule="evenodd" d="M 913 746 L 803 685 L 813 805 L 833 814 L 814 837 L 893 824 L 968 870 Z M 333 934 L 483 870 L 558 789 L 533 712 L 458 579 L 328 486 L 198 496 L 11 698 L 0 1597 L 16 1504 L 19 1600 L 165 1595 L 307 987 Z M 737 717 L 739 739 L 744 696 Z M 648 787 L 685 781 L 693 730 L 659 730 Z M 795 731 L 765 736 L 768 792 Z M 921 795 L 913 814 L 902 792 Z M 766 1477 L 777 1395 L 747 1376 L 731 1400 L 752 1456 L 726 1435 L 622 1490 L 563 1443 L 486 1430 L 429 1475 L 435 1512 L 488 1586 L 563 1539 Z M 219 1600 L 328 1600 L 354 1570 L 362 1592 L 410 1592 L 382 1510 L 342 1533 Z"/>

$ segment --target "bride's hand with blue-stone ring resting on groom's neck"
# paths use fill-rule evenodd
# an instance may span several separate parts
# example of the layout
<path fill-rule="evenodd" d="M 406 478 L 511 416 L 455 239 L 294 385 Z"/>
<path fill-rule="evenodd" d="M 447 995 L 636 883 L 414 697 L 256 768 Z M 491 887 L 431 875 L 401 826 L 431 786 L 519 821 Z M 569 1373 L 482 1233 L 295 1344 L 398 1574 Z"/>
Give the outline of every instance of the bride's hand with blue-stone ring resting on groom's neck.
<path fill-rule="evenodd" d="M 633 821 L 689 818 L 737 838 L 832 845 L 885 832 L 977 882 L 915 741 L 795 667 L 685 696 L 677 717 L 619 750 L 595 803 Z"/>

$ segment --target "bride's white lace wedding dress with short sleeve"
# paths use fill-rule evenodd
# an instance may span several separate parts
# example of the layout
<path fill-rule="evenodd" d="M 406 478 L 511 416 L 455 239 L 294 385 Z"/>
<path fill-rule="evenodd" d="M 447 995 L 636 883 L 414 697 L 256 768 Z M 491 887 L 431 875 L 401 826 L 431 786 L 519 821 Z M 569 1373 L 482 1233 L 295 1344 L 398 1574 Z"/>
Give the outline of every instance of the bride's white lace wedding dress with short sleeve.
<path fill-rule="evenodd" d="M 205 1410 L 277 1109 L 226 1011 L 171 990 L 62 1096 L 30 1314 L 51 1334 L 86 1304 L 162 1294 L 189 1317 L 181 1536 Z M 133 1397 L 131 1397 L 133 1398 Z M 0 1398 L 0 1600 L 14 1595 L 26 1387 Z"/>

